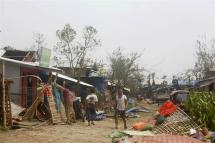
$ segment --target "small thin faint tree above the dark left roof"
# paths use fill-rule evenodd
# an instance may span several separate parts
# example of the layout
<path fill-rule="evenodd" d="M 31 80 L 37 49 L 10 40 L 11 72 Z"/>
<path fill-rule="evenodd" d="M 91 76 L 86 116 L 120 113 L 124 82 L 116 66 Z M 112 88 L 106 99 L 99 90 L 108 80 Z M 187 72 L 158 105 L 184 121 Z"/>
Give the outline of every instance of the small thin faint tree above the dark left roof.
<path fill-rule="evenodd" d="M 34 33 L 33 34 L 33 40 L 34 40 L 34 44 L 32 46 L 32 49 L 36 50 L 37 60 L 40 60 L 42 48 L 45 47 L 45 45 L 46 45 L 45 44 L 45 37 L 41 33 Z"/>

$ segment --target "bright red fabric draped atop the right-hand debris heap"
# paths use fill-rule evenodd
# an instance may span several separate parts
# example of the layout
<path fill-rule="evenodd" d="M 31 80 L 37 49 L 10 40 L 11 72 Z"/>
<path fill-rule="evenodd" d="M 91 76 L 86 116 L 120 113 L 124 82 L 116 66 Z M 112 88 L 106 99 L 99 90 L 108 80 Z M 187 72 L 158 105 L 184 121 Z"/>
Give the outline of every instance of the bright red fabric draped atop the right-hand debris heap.
<path fill-rule="evenodd" d="M 159 109 L 162 116 L 168 116 L 176 111 L 176 106 L 171 101 L 166 101 Z"/>

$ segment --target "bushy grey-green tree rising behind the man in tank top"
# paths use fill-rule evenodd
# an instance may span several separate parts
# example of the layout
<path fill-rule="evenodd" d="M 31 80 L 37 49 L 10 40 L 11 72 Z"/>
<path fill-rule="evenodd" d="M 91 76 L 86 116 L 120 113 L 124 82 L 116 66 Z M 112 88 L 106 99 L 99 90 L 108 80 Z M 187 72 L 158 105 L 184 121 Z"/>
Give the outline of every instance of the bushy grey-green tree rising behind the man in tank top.
<path fill-rule="evenodd" d="M 140 86 L 143 81 L 143 74 L 141 73 L 142 69 L 136 63 L 140 57 L 141 55 L 138 53 L 124 55 L 121 48 L 114 50 L 112 56 L 109 57 L 112 81 L 133 90 Z"/>

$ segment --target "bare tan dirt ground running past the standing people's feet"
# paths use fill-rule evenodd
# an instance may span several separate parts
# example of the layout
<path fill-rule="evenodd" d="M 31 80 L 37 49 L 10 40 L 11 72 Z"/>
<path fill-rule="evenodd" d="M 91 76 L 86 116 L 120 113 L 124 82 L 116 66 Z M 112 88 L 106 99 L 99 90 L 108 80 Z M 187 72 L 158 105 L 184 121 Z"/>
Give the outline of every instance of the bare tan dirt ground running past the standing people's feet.
<path fill-rule="evenodd" d="M 134 122 L 152 117 L 156 105 L 141 106 L 153 111 L 139 113 L 140 118 L 128 118 L 128 127 Z M 114 130 L 114 120 L 111 118 L 97 121 L 96 125 L 90 127 L 87 122 L 77 121 L 72 125 L 44 125 L 35 129 L 0 131 L 0 143 L 110 143 L 108 135 Z M 123 130 L 122 121 L 119 130 Z"/>

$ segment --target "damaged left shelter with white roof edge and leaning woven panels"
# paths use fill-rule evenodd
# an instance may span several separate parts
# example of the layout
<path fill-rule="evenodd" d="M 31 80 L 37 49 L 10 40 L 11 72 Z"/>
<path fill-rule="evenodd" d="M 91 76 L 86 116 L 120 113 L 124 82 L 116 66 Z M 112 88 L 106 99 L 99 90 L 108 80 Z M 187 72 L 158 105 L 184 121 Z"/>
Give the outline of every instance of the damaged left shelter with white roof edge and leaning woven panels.
<path fill-rule="evenodd" d="M 4 121 L 3 109 L 6 109 L 7 112 L 7 126 L 14 127 L 17 124 L 22 124 L 19 121 L 31 121 L 33 119 L 39 121 L 51 119 L 50 121 L 53 124 L 67 123 L 66 99 L 63 95 L 60 95 L 61 92 L 56 92 L 56 86 L 53 84 L 50 74 L 57 76 L 56 80 L 59 85 L 62 85 L 63 81 L 74 85 L 77 83 L 76 79 L 60 73 L 57 74 L 57 72 L 61 72 L 58 68 L 41 67 L 36 62 L 23 62 L 3 57 L 0 57 L 0 61 L 2 65 L 1 74 L 6 81 L 5 92 L 7 95 L 5 96 L 5 107 L 1 106 L 1 123 Z M 93 87 L 93 85 L 82 81 L 80 85 L 81 88 Z M 0 99 L 1 101 L 3 100 L 2 98 Z M 72 100 L 75 100 L 75 96 Z M 11 107 L 11 104 L 14 108 Z M 25 110 L 16 117 L 12 116 L 12 109 L 17 109 L 17 107 Z"/>

